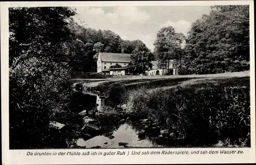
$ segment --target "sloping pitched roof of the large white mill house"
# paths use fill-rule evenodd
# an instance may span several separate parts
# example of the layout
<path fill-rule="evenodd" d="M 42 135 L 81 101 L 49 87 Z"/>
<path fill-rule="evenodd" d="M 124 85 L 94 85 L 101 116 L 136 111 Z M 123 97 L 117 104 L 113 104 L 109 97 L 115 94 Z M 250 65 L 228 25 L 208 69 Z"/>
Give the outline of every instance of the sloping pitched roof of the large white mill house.
<path fill-rule="evenodd" d="M 131 54 L 100 52 L 99 56 L 102 62 L 119 62 L 119 63 L 131 62 Z"/>

